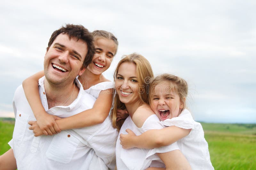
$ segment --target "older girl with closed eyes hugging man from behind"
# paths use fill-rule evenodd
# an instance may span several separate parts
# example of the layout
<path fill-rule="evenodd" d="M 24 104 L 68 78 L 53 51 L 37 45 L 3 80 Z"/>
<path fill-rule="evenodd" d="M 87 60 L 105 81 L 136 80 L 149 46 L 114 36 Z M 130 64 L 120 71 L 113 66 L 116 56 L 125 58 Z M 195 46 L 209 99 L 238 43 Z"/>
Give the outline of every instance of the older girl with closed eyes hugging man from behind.
<path fill-rule="evenodd" d="M 29 122 L 32 125 L 29 129 L 33 130 L 35 136 L 52 135 L 61 130 L 92 126 L 102 123 L 107 118 L 112 105 L 113 83 L 102 73 L 110 66 L 117 51 L 118 41 L 112 33 L 107 31 L 97 30 L 92 32 L 92 35 L 95 54 L 84 73 L 78 77 L 84 90 L 97 98 L 92 109 L 62 119 L 50 115 L 45 112 L 38 94 L 38 79 L 44 73 L 39 72 L 23 81 L 25 95 L 37 120 Z M 66 102 L 63 106 L 67 105 Z"/>

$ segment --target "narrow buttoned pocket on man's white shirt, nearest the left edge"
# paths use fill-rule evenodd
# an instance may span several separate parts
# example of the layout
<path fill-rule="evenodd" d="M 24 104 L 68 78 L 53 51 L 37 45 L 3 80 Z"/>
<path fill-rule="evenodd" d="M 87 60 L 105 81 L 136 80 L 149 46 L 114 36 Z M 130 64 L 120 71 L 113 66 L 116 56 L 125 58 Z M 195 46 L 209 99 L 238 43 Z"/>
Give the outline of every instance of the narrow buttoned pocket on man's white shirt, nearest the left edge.
<path fill-rule="evenodd" d="M 17 111 L 17 115 L 15 118 L 15 125 L 13 130 L 13 136 L 12 138 L 16 141 L 22 141 L 25 131 L 28 126 L 28 117 L 29 115 L 26 115 L 22 112 Z"/>

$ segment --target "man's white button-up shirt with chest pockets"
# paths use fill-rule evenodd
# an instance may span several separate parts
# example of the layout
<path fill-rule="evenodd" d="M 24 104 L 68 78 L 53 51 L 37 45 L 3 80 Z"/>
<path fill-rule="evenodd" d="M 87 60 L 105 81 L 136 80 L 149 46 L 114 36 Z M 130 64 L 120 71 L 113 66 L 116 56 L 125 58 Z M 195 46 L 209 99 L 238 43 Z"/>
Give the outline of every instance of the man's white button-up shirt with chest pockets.
<path fill-rule="evenodd" d="M 81 83 L 77 79 L 75 81 L 80 88 L 76 100 L 69 106 L 55 106 L 48 109 L 44 93 L 44 77 L 39 80 L 40 98 L 49 114 L 70 117 L 92 108 L 98 97 L 97 94 L 93 93 L 93 96 L 88 94 Z M 109 89 L 110 83 L 106 82 L 107 86 L 101 83 L 101 90 Z M 15 91 L 13 108 L 16 121 L 9 145 L 13 149 L 19 170 L 115 168 L 115 144 L 118 132 L 112 127 L 109 116 L 102 124 L 65 130 L 52 136 L 34 137 L 33 131 L 28 129 L 28 121 L 36 118 L 26 100 L 22 86 Z"/>

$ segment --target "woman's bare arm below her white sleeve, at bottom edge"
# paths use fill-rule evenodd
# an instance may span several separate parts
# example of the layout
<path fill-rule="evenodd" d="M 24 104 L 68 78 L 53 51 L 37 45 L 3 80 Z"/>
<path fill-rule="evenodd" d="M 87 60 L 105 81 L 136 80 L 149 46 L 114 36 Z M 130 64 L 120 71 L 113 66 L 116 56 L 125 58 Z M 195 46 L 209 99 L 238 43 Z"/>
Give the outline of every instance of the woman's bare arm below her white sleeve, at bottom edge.
<path fill-rule="evenodd" d="M 188 160 L 185 158 L 180 150 L 157 153 L 157 155 L 164 162 L 166 170 L 191 170 Z"/>

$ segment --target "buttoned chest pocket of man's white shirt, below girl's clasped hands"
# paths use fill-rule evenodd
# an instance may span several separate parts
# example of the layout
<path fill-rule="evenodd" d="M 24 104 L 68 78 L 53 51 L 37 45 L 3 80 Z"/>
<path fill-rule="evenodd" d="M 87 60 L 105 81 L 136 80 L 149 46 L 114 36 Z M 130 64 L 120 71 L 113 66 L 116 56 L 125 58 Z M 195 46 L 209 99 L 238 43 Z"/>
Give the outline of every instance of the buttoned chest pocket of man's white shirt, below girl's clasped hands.
<path fill-rule="evenodd" d="M 80 141 L 74 135 L 67 131 L 61 131 L 52 138 L 46 151 L 46 157 L 58 162 L 69 163 L 79 143 Z"/>

